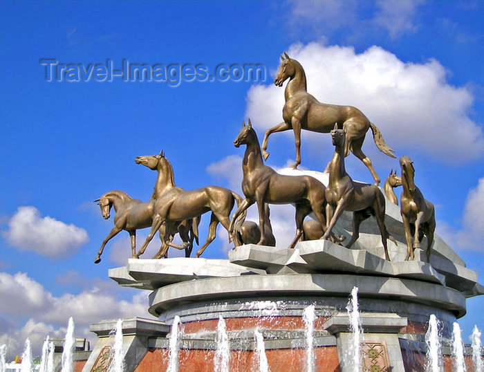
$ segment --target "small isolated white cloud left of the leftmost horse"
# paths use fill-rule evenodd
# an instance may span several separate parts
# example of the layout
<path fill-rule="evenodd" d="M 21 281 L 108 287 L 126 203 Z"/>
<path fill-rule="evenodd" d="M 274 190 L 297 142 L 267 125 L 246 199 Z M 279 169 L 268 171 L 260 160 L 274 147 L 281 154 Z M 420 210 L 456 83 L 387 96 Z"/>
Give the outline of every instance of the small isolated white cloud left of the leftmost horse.
<path fill-rule="evenodd" d="M 72 254 L 89 241 L 86 230 L 49 216 L 42 217 L 35 207 L 19 207 L 2 235 L 17 248 L 48 257 Z"/>

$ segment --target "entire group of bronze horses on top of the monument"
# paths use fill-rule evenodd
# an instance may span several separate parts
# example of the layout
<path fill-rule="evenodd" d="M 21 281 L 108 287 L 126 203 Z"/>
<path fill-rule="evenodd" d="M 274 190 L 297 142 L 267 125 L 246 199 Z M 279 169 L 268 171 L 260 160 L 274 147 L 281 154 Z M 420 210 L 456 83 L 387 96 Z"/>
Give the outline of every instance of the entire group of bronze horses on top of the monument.
<path fill-rule="evenodd" d="M 149 201 L 142 203 L 124 192 L 113 190 L 96 200 L 104 218 L 109 218 L 111 207 L 114 207 L 116 215 L 114 227 L 102 242 L 95 263 L 101 261 L 100 256 L 106 243 L 121 230 L 129 232 L 133 258 L 139 258 L 145 252 L 156 232 L 160 235 L 161 246 L 153 258 L 167 257 L 169 247 L 185 250 L 185 256 L 189 257 L 194 241 L 198 244 L 198 224 L 206 212 L 211 212 L 209 232 L 207 240 L 196 252 L 196 257 L 200 257 L 215 239 L 218 223 L 225 227 L 229 241 L 233 241 L 235 246 L 248 243 L 275 246 L 268 204 L 295 206 L 297 231 L 289 248 L 295 248 L 301 239 L 329 239 L 333 243 L 342 243 L 344 236 L 335 236 L 332 230 L 344 211 L 353 212 L 353 234 L 346 244 L 350 248 L 358 239 L 360 223 L 374 216 L 380 229 L 385 259 L 390 260 L 387 239 L 395 244 L 396 241 L 384 223 L 385 200 L 378 187 L 380 178 L 371 160 L 362 152 L 366 131 L 371 129 L 375 145 L 384 154 L 395 158 L 393 150 L 384 142 L 378 128 L 360 110 L 353 106 L 323 104 L 307 93 L 304 68 L 287 53 L 284 55 L 281 56 L 282 62 L 274 80 L 274 84 L 282 86 L 289 79 L 285 90 L 286 104 L 282 112 L 284 121 L 266 131 L 262 146 L 259 145 L 250 120 L 248 125 L 243 122 L 234 140 L 235 147 L 246 147 L 242 163 L 242 191 L 245 198 L 218 186 L 185 191 L 175 185 L 174 171 L 165 154 L 161 152 L 160 155 L 138 156 L 135 160 L 137 164 L 157 171 L 153 194 Z M 331 133 L 335 153 L 325 169 L 325 172 L 329 172 L 327 187 L 311 176 L 281 175 L 264 164 L 269 156 L 266 150 L 270 134 L 288 129 L 292 129 L 295 134 L 296 162 L 293 167 L 301 163 L 301 129 Z M 357 183 L 346 173 L 344 158 L 350 152 L 368 167 L 373 176 L 373 185 Z M 398 177 L 396 172 L 393 174 L 391 171 L 384 184 L 384 192 L 392 203 L 398 205 L 393 188 L 402 185 L 400 214 L 407 240 L 406 259 L 413 259 L 413 249 L 420 247 L 425 234 L 428 261 L 435 230 L 434 206 L 423 198 L 413 183 L 413 162 L 407 156 L 402 156 L 400 167 L 402 176 Z M 259 211 L 259 225 L 245 221 L 247 209 L 254 203 Z M 235 204 L 237 209 L 230 218 Z M 304 221 L 310 213 L 313 213 L 315 220 Z M 145 227 L 151 227 L 151 230 L 145 243 L 136 252 L 136 230 Z M 173 243 L 176 234 L 183 242 L 181 245 Z"/>

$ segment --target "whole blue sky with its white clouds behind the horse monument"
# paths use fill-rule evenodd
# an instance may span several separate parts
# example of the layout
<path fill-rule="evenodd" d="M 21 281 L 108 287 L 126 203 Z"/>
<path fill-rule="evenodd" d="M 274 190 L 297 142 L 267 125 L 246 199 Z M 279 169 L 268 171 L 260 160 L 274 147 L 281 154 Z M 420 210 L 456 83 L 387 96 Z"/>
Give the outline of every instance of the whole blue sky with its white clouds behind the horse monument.
<path fill-rule="evenodd" d="M 149 199 L 156 174 L 134 158 L 161 149 L 178 186 L 241 192 L 243 150 L 232 141 L 249 116 L 259 138 L 281 121 L 283 89 L 272 81 L 285 50 L 305 66 L 310 93 L 357 106 L 412 158 L 438 234 L 484 282 L 483 13 L 481 1 L 1 1 L 0 344 L 15 354 L 28 335 L 37 345 L 62 336 L 70 315 L 92 339 L 93 322 L 146 314 L 147 292 L 107 278 L 129 257 L 126 232 L 93 263 L 113 221 L 92 201 L 111 189 Z M 261 64 L 266 80 L 48 82 L 40 59 L 204 64 L 210 73 Z M 369 138 L 364 151 L 384 180 L 398 160 Z M 292 133 L 272 135 L 269 151 L 274 167 L 293 161 Z M 304 134 L 302 166 L 322 170 L 332 154 L 328 135 Z M 347 170 L 372 182 L 354 158 Z M 287 208 L 274 214 L 281 235 L 292 235 L 292 218 Z M 203 257 L 226 257 L 218 235 Z M 467 310 L 465 340 L 474 324 L 484 328 L 484 299 Z"/>

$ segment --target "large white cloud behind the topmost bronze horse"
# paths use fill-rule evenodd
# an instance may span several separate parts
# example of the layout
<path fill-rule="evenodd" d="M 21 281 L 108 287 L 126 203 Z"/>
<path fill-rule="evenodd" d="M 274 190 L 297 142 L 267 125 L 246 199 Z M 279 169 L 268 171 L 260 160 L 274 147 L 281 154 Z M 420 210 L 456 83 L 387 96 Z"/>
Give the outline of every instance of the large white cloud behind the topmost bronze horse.
<path fill-rule="evenodd" d="M 402 149 L 424 151 L 427 156 L 455 165 L 483 154 L 483 131 L 467 115 L 472 93 L 448 84 L 445 68 L 436 60 L 405 63 L 378 46 L 355 53 L 351 47 L 317 43 L 294 44 L 289 55 L 304 66 L 309 93 L 319 102 L 361 109 L 397 153 Z M 252 86 L 247 102 L 246 116 L 252 119 L 259 136 L 282 121 L 283 89 L 274 84 Z M 293 137 L 292 131 L 286 133 Z M 272 134 L 268 151 L 274 136 L 281 134 Z M 320 141 L 313 133 L 303 138 L 302 146 Z M 365 143 L 369 142 L 373 142 L 371 131 L 366 134 Z M 289 151 L 295 152 L 293 149 Z M 365 151 L 371 158 L 372 153 L 379 152 L 374 144 Z"/>

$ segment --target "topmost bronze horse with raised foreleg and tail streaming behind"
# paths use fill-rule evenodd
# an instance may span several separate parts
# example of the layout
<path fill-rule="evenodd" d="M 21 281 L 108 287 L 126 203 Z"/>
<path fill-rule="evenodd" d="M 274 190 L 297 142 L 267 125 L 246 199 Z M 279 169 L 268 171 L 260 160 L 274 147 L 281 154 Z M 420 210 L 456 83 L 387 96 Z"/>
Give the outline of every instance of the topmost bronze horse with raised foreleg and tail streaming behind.
<path fill-rule="evenodd" d="M 344 156 L 353 152 L 371 172 L 375 185 L 378 186 L 380 178 L 376 174 L 371 160 L 362 151 L 364 136 L 369 128 L 373 132 L 373 140 L 380 151 L 392 158 L 393 150 L 388 147 L 382 138 L 380 130 L 366 118 L 362 111 L 353 106 L 338 106 L 336 104 L 324 104 L 318 102 L 313 95 L 306 90 L 306 73 L 304 68 L 295 59 L 281 56 L 282 62 L 279 65 L 274 84 L 282 86 L 283 82 L 289 79 L 284 91 L 286 104 L 282 109 L 283 122 L 277 124 L 266 131 L 262 142 L 262 154 L 267 160 L 269 153 L 267 150 L 268 139 L 271 133 L 294 131 L 296 142 L 296 162 L 293 167 L 301 164 L 301 129 L 318 133 L 329 133 L 333 129 L 335 122 L 339 129 L 346 130 L 346 142 L 344 143 Z M 328 167 L 326 167 L 326 170 Z"/>

